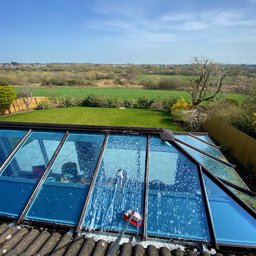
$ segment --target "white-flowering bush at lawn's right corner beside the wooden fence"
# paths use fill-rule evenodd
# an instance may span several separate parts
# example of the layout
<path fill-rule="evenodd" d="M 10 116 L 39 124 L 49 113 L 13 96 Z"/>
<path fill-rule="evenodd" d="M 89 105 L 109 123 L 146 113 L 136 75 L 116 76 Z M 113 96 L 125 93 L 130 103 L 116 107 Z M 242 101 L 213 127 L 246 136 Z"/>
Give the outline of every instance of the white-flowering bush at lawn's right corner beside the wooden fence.
<path fill-rule="evenodd" d="M 172 116 L 174 119 L 188 124 L 193 131 L 198 131 L 200 125 L 209 118 L 209 115 L 199 113 L 198 110 L 194 108 L 183 111 L 181 111 L 181 109 L 175 110 L 173 111 Z"/>

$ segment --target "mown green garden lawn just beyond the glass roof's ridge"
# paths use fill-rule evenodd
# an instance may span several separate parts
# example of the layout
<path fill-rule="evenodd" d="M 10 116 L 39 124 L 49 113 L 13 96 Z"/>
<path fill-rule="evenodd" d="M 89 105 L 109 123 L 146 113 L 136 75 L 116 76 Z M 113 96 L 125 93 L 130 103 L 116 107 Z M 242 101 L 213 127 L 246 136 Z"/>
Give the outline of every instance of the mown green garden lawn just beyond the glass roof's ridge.
<path fill-rule="evenodd" d="M 85 124 L 135 127 L 163 127 L 185 131 L 172 125 L 171 116 L 163 110 L 134 108 L 52 108 L 0 117 L 0 121 L 58 124 Z"/>

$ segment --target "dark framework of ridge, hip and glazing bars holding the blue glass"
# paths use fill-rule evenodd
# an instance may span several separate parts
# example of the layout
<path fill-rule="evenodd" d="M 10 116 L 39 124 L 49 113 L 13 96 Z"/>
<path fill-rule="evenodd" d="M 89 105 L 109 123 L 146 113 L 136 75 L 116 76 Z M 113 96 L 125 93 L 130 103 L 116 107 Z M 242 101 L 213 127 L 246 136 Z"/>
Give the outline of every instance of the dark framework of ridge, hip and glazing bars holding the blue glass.
<path fill-rule="evenodd" d="M 103 151 L 104 148 L 106 146 L 107 143 L 107 139 L 108 139 L 108 134 L 109 132 L 111 133 L 124 133 L 124 134 L 147 134 L 147 147 L 146 147 L 146 164 L 145 164 L 145 187 L 144 187 L 144 199 L 148 190 L 148 159 L 149 159 L 149 142 L 150 142 L 150 134 L 158 134 L 161 136 L 162 140 L 165 141 L 169 141 L 171 143 L 171 145 L 173 145 L 175 148 L 177 148 L 183 155 L 185 155 L 191 162 L 193 162 L 196 166 L 197 166 L 197 171 L 198 171 L 198 175 L 199 175 L 199 181 L 201 183 L 201 190 L 202 190 L 202 195 L 203 195 L 203 200 L 204 200 L 204 207 L 205 207 L 205 212 L 206 212 L 206 217 L 207 217 L 207 222 L 209 225 L 209 229 L 210 229 L 210 236 L 211 236 L 211 245 L 212 247 L 215 247 L 216 249 L 218 248 L 219 245 L 227 245 L 230 246 L 230 244 L 222 244 L 222 243 L 217 243 L 216 240 L 216 236 L 215 236 L 215 232 L 214 232 L 214 227 L 212 225 L 212 219 L 211 219 L 211 212 L 209 209 L 209 202 L 207 203 L 207 196 L 206 196 L 206 191 L 205 191 L 205 186 L 204 186 L 204 180 L 202 177 L 202 172 L 204 174 L 207 175 L 207 177 L 209 177 L 210 179 L 212 179 L 223 191 L 225 191 L 231 198 L 233 198 L 235 200 L 235 202 L 237 202 L 239 205 L 241 205 L 243 207 L 243 209 L 245 209 L 247 212 L 249 212 L 252 217 L 254 219 L 256 219 L 256 212 L 249 206 L 247 205 L 241 198 L 239 198 L 235 193 L 233 193 L 233 191 L 231 191 L 221 180 L 219 179 L 219 177 L 216 177 L 215 175 L 213 175 L 209 170 L 207 170 L 202 164 L 200 164 L 193 156 L 191 156 L 185 149 L 183 149 L 177 142 L 174 141 L 174 137 L 173 137 L 173 133 L 171 130 L 165 130 L 163 128 L 142 128 L 142 127 L 123 127 L 123 126 L 87 126 L 87 125 L 66 125 L 66 124 L 39 124 L 39 123 L 17 123 L 17 122 L 0 122 L 0 127 L 3 128 L 12 128 L 12 129 L 34 129 L 34 130 L 62 130 L 62 131 L 67 131 L 65 136 L 62 138 L 60 145 L 58 146 L 57 150 L 55 151 L 53 157 L 51 158 L 49 164 L 46 166 L 46 169 L 44 171 L 43 176 L 41 177 L 41 179 L 38 182 L 38 185 L 36 186 L 36 188 L 33 191 L 33 194 L 30 196 L 27 204 L 25 205 L 25 207 L 23 208 L 22 213 L 20 214 L 20 217 L 17 219 L 17 223 L 21 223 L 22 220 L 24 220 L 24 217 L 26 215 L 27 210 L 29 209 L 29 206 L 31 205 L 31 203 L 33 202 L 33 199 L 35 198 L 36 194 L 38 193 L 39 188 L 42 186 L 42 182 L 44 181 L 44 179 L 46 178 L 47 172 L 50 171 L 50 167 L 54 162 L 54 157 L 56 157 L 58 155 L 58 151 L 61 149 L 63 143 L 65 142 L 65 140 L 67 139 L 68 133 L 70 131 L 83 131 L 83 132 L 101 132 L 101 133 L 107 133 L 105 140 L 103 142 L 102 148 L 101 148 L 101 153 L 100 156 L 98 158 L 98 162 L 97 165 L 95 167 L 94 170 L 94 180 L 95 177 L 97 175 L 97 169 L 99 168 L 99 164 L 101 161 L 101 157 L 103 155 Z M 10 159 L 12 158 L 12 156 L 15 154 L 15 152 L 17 152 L 17 150 L 22 146 L 23 142 L 26 141 L 26 139 L 28 138 L 29 134 L 31 133 L 31 130 L 25 135 L 25 137 L 22 138 L 21 142 L 18 144 L 17 147 L 15 147 L 15 149 L 13 150 L 13 152 L 10 154 L 10 156 L 8 157 L 8 161 L 10 161 Z M 181 133 L 182 134 L 182 133 Z M 5 166 L 8 163 L 8 161 L 5 161 Z M 0 168 L 0 170 L 3 170 L 3 166 Z M 226 182 L 227 183 L 227 182 Z M 233 183 L 228 184 L 229 186 L 234 185 Z M 93 183 L 90 184 L 91 189 L 93 188 Z M 235 185 L 236 186 L 236 185 Z M 234 187 L 234 186 L 233 186 Z M 241 190 L 242 188 L 236 186 L 236 189 Z M 246 193 L 246 189 L 243 190 L 244 193 Z M 249 191 L 249 190 L 248 190 Z M 91 193 L 91 192 L 90 192 Z M 87 204 L 89 203 L 89 199 L 90 199 L 90 193 L 88 191 L 86 198 L 85 198 L 85 202 L 84 202 L 84 206 L 83 206 L 83 210 L 81 211 L 80 217 L 79 217 L 79 221 L 77 223 L 76 229 L 75 231 L 77 233 L 79 233 L 82 230 L 82 221 L 83 221 L 83 217 L 84 217 L 84 213 L 87 207 Z M 249 194 L 249 193 L 247 193 Z M 255 194 L 255 193 L 254 193 Z M 146 234 L 146 221 L 147 221 L 147 200 L 143 201 L 143 218 L 145 221 L 145 226 L 142 226 L 142 231 L 141 231 L 141 239 L 145 240 L 146 237 L 158 237 L 158 236 L 153 236 L 153 235 L 147 235 Z M 15 218 L 12 218 L 15 219 Z M 46 223 L 43 221 L 33 221 L 33 220 L 29 220 L 30 222 L 35 222 L 35 223 Z M 47 224 L 51 224 L 49 222 L 47 222 Z M 58 223 L 52 223 L 52 225 L 55 226 L 72 226 L 72 225 L 61 225 Z M 74 226 L 72 226 L 74 227 Z M 96 229 L 97 230 L 97 229 Z M 118 231 L 112 231 L 112 230 L 106 230 L 107 232 L 110 233 L 118 233 Z M 133 233 L 127 233 L 127 234 L 131 234 L 131 235 L 137 235 L 137 234 L 133 234 Z M 170 237 L 161 237 L 163 239 L 169 239 L 169 240 L 175 240 L 175 241 L 188 241 L 188 242 L 200 242 L 200 241 L 193 241 L 192 239 L 182 239 L 182 238 L 170 238 Z M 201 241 L 202 243 L 206 243 L 205 241 Z M 238 246 L 241 247 L 241 244 L 233 244 L 233 246 Z M 249 246 L 249 245 L 242 245 L 243 247 L 256 247 L 256 246 Z"/>

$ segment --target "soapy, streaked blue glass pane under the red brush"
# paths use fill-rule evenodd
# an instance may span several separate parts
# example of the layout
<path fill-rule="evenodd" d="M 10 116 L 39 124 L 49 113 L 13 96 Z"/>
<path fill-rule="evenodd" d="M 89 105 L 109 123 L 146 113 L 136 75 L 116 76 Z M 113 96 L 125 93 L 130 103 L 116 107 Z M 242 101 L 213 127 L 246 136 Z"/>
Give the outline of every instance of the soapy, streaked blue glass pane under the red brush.
<path fill-rule="evenodd" d="M 142 214 L 147 137 L 110 135 L 83 226 L 122 230 L 122 210 Z M 129 225 L 127 230 L 140 232 Z"/>

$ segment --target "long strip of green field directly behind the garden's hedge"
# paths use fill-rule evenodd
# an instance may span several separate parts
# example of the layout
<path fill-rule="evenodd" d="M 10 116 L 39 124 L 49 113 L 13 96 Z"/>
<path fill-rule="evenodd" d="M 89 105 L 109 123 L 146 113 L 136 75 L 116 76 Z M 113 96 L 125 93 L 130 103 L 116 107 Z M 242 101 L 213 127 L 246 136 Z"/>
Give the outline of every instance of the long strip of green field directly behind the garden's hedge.
<path fill-rule="evenodd" d="M 106 88 L 106 87 L 55 87 L 57 90 L 56 97 L 81 97 L 85 98 L 88 94 L 97 93 L 105 94 L 107 96 L 121 98 L 123 100 L 134 99 L 138 100 L 141 96 L 147 96 L 150 99 L 161 100 L 165 97 L 172 95 L 173 97 L 180 97 L 180 95 L 191 102 L 190 94 L 186 91 L 164 91 L 164 90 L 146 90 L 146 89 L 134 89 L 134 88 Z M 15 93 L 19 92 L 19 87 L 13 87 Z M 42 87 L 37 88 L 33 92 L 34 97 L 49 97 L 46 90 Z M 229 93 L 226 98 L 235 98 L 242 102 L 243 95 L 236 93 Z M 203 102 L 206 103 L 206 102 Z"/>

